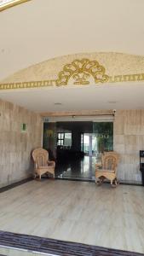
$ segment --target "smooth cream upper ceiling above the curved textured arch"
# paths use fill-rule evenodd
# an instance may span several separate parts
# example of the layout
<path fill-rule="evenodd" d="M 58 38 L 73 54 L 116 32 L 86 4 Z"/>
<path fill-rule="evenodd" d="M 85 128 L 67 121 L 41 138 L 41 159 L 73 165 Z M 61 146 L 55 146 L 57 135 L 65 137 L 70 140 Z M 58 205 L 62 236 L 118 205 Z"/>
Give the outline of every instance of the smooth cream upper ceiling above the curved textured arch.
<path fill-rule="evenodd" d="M 144 55 L 143 0 L 32 0 L 0 13 L 0 80 L 60 55 Z"/>

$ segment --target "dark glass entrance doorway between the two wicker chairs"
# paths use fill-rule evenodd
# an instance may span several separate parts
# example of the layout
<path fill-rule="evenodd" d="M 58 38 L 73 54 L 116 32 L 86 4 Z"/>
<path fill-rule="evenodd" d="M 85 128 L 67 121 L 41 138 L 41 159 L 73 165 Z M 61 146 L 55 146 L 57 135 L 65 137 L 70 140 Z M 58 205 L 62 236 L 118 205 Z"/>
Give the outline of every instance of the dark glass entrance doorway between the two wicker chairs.
<path fill-rule="evenodd" d="M 55 177 L 91 180 L 103 151 L 113 149 L 113 123 L 44 123 L 43 148 L 55 160 Z"/>

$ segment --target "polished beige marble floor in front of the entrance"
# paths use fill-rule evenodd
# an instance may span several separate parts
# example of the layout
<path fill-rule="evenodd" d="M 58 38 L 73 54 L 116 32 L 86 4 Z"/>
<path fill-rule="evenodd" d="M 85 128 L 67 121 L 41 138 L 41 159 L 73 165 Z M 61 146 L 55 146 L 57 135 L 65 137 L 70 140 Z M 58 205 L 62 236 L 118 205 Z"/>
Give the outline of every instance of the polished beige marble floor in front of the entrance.
<path fill-rule="evenodd" d="M 33 180 L 0 194 L 0 230 L 144 253 L 144 188 Z"/>

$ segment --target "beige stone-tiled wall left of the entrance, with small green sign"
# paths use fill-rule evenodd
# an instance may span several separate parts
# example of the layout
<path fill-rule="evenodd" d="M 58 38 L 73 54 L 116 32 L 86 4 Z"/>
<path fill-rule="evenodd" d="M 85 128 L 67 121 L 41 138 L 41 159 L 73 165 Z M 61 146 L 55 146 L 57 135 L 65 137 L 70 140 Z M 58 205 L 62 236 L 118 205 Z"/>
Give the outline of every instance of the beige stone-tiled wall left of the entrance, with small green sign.
<path fill-rule="evenodd" d="M 31 176 L 31 153 L 41 146 L 42 131 L 37 113 L 0 100 L 0 187 Z"/>

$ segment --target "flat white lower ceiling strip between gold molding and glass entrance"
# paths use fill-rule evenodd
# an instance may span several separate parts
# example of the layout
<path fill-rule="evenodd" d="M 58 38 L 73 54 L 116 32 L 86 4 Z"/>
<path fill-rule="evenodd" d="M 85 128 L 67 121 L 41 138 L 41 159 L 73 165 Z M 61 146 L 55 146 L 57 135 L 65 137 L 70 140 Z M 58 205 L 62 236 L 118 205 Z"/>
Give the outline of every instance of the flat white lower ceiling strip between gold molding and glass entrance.
<path fill-rule="evenodd" d="M 144 109 L 143 96 L 144 83 L 136 82 L 0 92 L 3 100 L 37 113 L 86 109 Z"/>

